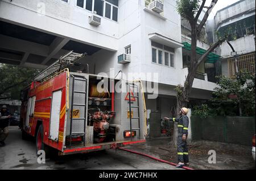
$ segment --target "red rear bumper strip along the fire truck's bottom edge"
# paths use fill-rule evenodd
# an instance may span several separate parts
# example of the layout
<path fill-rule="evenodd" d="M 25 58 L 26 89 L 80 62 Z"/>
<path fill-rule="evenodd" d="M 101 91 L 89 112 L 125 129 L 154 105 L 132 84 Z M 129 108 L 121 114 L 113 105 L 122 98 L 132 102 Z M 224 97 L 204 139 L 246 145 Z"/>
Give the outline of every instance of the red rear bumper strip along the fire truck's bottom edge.
<path fill-rule="evenodd" d="M 93 145 L 93 146 L 85 146 L 80 148 L 71 148 L 64 149 L 63 152 L 59 151 L 59 155 L 68 155 L 68 154 L 76 154 L 76 153 L 89 153 L 91 151 L 99 151 L 99 150 L 107 150 L 107 149 L 116 149 L 119 147 L 124 147 L 127 145 L 133 144 L 141 144 L 146 142 L 146 140 L 136 140 L 136 141 L 123 141 L 123 142 L 110 142 L 109 144 L 102 145 Z"/>

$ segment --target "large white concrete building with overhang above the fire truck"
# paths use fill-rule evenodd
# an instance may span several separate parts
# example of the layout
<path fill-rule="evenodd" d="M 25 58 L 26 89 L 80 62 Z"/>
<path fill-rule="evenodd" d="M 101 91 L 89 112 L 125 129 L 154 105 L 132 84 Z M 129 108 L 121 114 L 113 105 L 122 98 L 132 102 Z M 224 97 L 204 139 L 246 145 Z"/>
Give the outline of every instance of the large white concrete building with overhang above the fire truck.
<path fill-rule="evenodd" d="M 82 64 L 89 73 L 158 73 L 159 97 L 147 109 L 171 114 L 175 86 L 184 84 L 181 19 L 175 0 L 163 1 L 163 12 L 151 10 L 152 0 L 2 0 L 0 1 L 0 62 L 45 68 L 68 50 L 88 53 Z M 93 13 L 94 12 L 94 13 Z M 97 16 L 100 26 L 89 24 Z M 206 46 L 206 45 L 205 45 Z M 118 64 L 118 56 L 130 62 Z M 145 78 L 138 75 L 138 78 Z M 195 79 L 191 98 L 209 99 L 216 84 Z"/>

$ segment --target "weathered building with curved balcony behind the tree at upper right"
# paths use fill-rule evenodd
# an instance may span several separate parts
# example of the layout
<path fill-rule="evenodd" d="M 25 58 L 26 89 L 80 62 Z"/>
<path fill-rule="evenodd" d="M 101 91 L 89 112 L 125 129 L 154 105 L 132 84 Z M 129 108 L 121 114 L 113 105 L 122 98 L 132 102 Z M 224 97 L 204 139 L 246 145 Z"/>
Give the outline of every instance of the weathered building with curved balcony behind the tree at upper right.
<path fill-rule="evenodd" d="M 220 36 L 227 31 L 232 32 L 228 41 L 237 52 L 238 70 L 248 69 L 255 74 L 255 1 L 241 0 L 218 10 L 214 16 L 214 27 Z M 226 42 L 217 48 L 217 53 L 223 57 L 222 75 L 233 76 L 235 73 L 235 59 L 231 52 Z"/>

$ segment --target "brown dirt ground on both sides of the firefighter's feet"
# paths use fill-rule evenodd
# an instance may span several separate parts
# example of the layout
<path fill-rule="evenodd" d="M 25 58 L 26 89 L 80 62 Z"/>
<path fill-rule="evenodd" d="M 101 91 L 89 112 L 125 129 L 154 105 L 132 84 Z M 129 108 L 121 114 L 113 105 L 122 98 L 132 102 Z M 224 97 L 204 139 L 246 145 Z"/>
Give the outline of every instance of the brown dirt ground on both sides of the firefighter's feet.
<path fill-rule="evenodd" d="M 170 162 L 177 162 L 177 150 L 170 145 L 170 137 L 151 138 L 146 144 L 133 145 L 130 149 L 153 155 Z M 216 163 L 208 163 L 209 150 L 216 151 Z M 213 141 L 196 141 L 189 145 L 189 167 L 200 170 L 255 170 L 251 146 L 225 144 Z"/>

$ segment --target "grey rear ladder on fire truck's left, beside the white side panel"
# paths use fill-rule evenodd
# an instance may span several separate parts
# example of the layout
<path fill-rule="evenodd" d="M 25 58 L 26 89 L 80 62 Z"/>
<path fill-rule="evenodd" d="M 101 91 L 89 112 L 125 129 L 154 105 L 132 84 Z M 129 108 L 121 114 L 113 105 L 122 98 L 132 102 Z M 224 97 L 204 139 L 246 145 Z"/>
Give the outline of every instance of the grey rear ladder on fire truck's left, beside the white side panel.
<path fill-rule="evenodd" d="M 86 91 L 87 91 L 87 80 L 84 77 L 75 77 L 74 75 L 71 75 L 72 79 L 73 79 L 73 83 L 72 83 L 72 99 L 71 99 L 71 119 L 70 119 L 70 131 L 69 131 L 69 146 L 71 146 L 71 142 L 72 142 L 72 136 L 78 135 L 78 134 L 82 134 L 83 136 L 83 142 L 84 142 L 84 146 L 85 146 L 85 133 L 86 133 Z M 76 81 L 82 81 L 85 82 L 85 91 L 76 91 L 75 90 L 75 82 Z M 84 104 L 77 104 L 74 102 L 74 94 L 81 94 L 84 95 L 84 99 L 85 99 L 85 103 Z M 73 117 L 73 106 L 80 106 L 80 107 L 84 107 L 84 117 Z M 76 120 L 84 120 L 84 132 L 72 132 L 72 124 L 73 121 Z"/>

